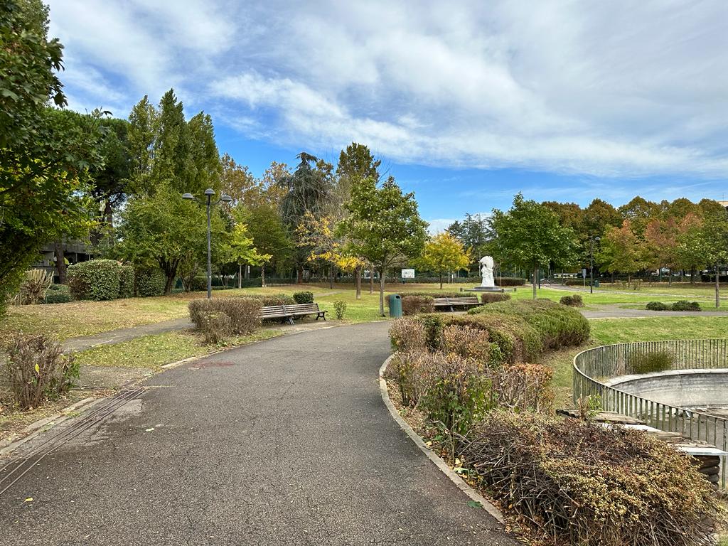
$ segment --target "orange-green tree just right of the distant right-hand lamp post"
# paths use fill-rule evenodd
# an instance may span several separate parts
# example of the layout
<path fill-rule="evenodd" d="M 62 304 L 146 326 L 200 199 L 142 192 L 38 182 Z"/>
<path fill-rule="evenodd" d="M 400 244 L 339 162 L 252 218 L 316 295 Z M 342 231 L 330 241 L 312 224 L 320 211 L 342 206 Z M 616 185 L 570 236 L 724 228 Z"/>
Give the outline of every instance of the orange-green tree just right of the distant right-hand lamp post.
<path fill-rule="evenodd" d="M 649 249 L 634 232 L 632 222 L 625 220 L 622 227 L 607 230 L 596 260 L 610 273 L 626 273 L 629 285 L 632 274 L 649 266 Z"/>

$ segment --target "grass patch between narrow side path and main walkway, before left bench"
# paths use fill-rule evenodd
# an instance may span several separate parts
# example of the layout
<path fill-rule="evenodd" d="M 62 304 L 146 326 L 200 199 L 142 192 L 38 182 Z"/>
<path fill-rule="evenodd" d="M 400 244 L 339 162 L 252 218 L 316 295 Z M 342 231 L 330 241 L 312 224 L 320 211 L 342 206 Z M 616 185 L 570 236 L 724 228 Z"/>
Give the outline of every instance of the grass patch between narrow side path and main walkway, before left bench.
<path fill-rule="evenodd" d="M 223 347 L 237 347 L 282 335 L 282 330 L 264 329 L 250 336 L 235 336 L 226 343 L 203 345 L 199 338 L 187 332 L 159 333 L 143 336 L 114 345 L 100 345 L 76 354 L 82 365 L 120 366 L 124 368 L 151 368 L 158 370 L 165 364 L 189 357 L 209 355 Z"/>

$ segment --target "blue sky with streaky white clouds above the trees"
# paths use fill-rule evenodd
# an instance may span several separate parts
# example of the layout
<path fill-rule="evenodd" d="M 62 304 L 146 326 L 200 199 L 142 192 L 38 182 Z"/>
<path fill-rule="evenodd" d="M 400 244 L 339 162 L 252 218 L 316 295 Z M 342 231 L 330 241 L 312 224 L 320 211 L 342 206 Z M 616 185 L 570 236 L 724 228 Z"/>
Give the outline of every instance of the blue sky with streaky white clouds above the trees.
<path fill-rule="evenodd" d="M 435 225 L 728 195 L 724 0 L 50 0 L 71 107 L 174 87 L 261 173 L 366 143 Z M 727 197 L 728 198 L 728 197 Z"/>

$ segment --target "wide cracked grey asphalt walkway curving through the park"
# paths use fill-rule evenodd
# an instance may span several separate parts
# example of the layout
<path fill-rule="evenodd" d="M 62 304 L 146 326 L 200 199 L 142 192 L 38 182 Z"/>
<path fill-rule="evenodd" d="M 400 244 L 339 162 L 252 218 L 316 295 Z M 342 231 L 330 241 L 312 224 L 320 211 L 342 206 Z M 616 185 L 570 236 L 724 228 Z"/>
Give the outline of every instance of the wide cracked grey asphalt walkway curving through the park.
<path fill-rule="evenodd" d="M 154 376 L 0 496 L 3 544 L 517 545 L 384 407 L 387 328 L 298 333 Z"/>

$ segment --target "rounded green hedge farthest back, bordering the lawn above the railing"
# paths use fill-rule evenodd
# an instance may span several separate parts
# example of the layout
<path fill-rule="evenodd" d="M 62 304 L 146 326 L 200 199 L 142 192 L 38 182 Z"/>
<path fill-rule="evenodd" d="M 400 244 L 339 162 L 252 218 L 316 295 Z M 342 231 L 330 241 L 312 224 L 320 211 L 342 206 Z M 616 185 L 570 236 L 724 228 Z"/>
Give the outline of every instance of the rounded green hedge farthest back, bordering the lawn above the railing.
<path fill-rule="evenodd" d="M 472 315 L 496 314 L 522 317 L 541 334 L 547 349 L 579 345 L 589 339 L 589 321 L 573 307 L 548 299 L 499 301 L 475 307 Z"/>

